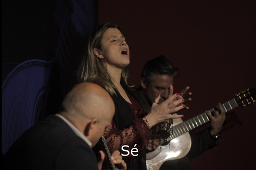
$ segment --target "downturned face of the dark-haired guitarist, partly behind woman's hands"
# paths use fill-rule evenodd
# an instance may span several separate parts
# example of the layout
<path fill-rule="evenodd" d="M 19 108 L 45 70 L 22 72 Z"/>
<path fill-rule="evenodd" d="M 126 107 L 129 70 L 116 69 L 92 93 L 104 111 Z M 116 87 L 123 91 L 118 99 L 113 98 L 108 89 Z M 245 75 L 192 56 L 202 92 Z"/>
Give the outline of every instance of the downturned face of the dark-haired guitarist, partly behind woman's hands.
<path fill-rule="evenodd" d="M 145 89 L 145 97 L 150 106 L 156 99 L 158 94 L 161 95 L 158 103 L 160 104 L 165 101 L 169 95 L 170 85 L 173 85 L 173 77 L 170 77 L 166 74 L 155 74 L 153 80 L 154 81 L 150 83 L 146 83 L 146 81 L 143 81 L 145 83 L 144 86 L 141 84 L 142 87 Z M 141 81 L 141 83 L 143 82 Z"/>

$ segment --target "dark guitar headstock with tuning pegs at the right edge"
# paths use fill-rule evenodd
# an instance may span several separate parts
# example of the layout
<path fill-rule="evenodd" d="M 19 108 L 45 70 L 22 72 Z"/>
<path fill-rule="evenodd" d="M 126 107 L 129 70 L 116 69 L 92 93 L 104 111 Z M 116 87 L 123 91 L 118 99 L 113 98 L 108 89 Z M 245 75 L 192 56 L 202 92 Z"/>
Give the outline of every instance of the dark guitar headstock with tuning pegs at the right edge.
<path fill-rule="evenodd" d="M 246 89 L 244 91 L 239 92 L 239 94 L 236 94 L 235 100 L 237 105 L 242 107 L 254 104 L 254 102 L 256 101 L 255 88 Z"/>

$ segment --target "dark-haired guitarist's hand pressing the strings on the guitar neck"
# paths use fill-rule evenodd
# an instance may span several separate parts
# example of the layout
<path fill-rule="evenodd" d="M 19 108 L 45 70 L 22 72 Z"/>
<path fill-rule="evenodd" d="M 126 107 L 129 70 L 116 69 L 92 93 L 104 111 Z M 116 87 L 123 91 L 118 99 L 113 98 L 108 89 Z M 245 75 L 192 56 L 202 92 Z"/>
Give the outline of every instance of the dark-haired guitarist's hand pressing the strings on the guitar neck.
<path fill-rule="evenodd" d="M 218 111 L 214 111 L 214 116 L 210 114 L 209 111 L 205 111 L 205 113 L 211 118 L 210 132 L 213 136 L 216 136 L 220 133 L 220 130 L 226 118 L 223 106 L 219 103 L 217 107 L 220 109 L 220 113 Z"/>

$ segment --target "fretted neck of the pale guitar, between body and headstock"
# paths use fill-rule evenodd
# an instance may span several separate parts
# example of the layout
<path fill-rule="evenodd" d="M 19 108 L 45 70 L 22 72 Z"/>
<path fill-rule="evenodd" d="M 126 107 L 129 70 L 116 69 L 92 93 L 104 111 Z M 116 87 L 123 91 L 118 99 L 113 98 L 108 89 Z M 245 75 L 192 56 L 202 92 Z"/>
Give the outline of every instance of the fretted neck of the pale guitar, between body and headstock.
<path fill-rule="evenodd" d="M 231 100 L 227 101 L 226 103 L 222 104 L 222 106 L 224 107 L 225 113 L 238 107 L 235 99 L 231 99 Z M 213 111 L 214 111 L 214 108 L 209 110 L 210 113 L 212 113 Z M 205 112 L 196 117 L 190 118 L 189 120 L 187 120 L 185 122 L 182 122 L 176 126 L 173 126 L 173 135 L 171 135 L 170 138 L 171 138 L 171 140 L 174 138 L 177 138 L 181 134 L 186 133 L 192 129 L 195 129 L 198 126 L 200 126 L 206 122 L 209 122 L 209 121 L 210 121 L 210 119 Z"/>

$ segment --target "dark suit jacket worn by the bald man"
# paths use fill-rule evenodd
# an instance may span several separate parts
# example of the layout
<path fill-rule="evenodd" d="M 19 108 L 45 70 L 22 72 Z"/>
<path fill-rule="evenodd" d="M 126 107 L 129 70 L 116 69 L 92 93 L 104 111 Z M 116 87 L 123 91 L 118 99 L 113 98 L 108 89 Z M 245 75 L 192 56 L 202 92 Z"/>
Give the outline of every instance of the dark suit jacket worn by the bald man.
<path fill-rule="evenodd" d="M 5 169 L 98 169 L 89 145 L 55 115 L 23 133 L 7 151 L 3 165 Z"/>

